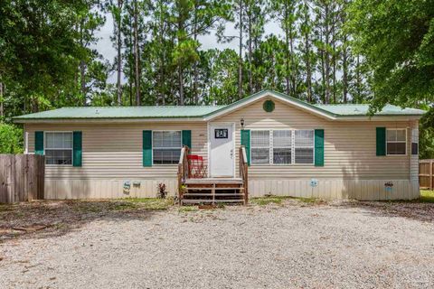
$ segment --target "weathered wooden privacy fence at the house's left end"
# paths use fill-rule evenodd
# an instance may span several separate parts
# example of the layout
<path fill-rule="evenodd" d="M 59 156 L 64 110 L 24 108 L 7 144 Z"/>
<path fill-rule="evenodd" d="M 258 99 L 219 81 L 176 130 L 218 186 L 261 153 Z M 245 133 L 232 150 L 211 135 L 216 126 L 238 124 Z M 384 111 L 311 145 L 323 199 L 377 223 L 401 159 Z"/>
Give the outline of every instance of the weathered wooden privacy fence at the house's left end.
<path fill-rule="evenodd" d="M 0 202 L 43 199 L 45 157 L 0 154 Z"/>

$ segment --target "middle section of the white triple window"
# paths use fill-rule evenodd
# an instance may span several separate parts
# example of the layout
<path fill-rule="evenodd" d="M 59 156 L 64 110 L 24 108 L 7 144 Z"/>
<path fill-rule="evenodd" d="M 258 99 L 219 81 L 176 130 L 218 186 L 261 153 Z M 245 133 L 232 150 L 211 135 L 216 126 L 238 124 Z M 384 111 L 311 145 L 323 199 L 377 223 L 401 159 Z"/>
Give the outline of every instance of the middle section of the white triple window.
<path fill-rule="evenodd" d="M 273 163 L 292 163 L 291 130 L 273 130 Z"/>

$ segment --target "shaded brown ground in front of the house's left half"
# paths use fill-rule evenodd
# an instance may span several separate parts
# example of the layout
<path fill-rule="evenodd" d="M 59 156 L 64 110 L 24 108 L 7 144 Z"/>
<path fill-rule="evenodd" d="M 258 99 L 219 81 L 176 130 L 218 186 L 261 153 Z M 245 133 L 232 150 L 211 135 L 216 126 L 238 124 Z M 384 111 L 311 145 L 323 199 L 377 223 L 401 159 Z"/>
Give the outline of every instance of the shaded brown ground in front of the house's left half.
<path fill-rule="evenodd" d="M 0 204 L 0 243 L 16 238 L 52 238 L 98 221 L 146 220 L 173 200 L 42 200 Z"/>

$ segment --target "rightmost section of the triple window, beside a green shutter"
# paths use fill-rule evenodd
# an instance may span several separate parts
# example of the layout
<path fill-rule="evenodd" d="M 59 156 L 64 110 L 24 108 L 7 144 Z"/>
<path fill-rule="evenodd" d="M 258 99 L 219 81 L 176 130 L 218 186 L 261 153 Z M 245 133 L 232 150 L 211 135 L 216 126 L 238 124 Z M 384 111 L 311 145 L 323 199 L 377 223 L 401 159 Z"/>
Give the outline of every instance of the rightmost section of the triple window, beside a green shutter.
<path fill-rule="evenodd" d="M 296 130 L 295 163 L 314 163 L 314 131 Z"/>

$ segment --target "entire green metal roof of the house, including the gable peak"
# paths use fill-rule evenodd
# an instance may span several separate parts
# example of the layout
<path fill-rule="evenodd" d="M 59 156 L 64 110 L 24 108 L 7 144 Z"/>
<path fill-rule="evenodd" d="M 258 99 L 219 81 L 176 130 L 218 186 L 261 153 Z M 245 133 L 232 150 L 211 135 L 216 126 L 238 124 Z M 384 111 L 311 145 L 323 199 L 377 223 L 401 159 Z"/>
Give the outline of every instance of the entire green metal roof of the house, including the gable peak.
<path fill-rule="evenodd" d="M 30 115 L 14 117 L 15 121 L 32 121 L 42 119 L 108 119 L 108 118 L 197 118 L 212 117 L 226 110 L 241 107 L 254 98 L 264 96 L 275 96 L 297 104 L 299 107 L 306 107 L 311 111 L 329 117 L 366 117 L 369 105 L 313 105 L 297 98 L 289 97 L 286 94 L 273 90 L 263 90 L 242 98 L 228 106 L 163 106 L 163 107 L 62 107 L 58 109 L 42 111 Z M 424 110 L 416 108 L 401 108 L 386 105 L 382 111 L 375 113 L 375 116 L 422 116 Z"/>

